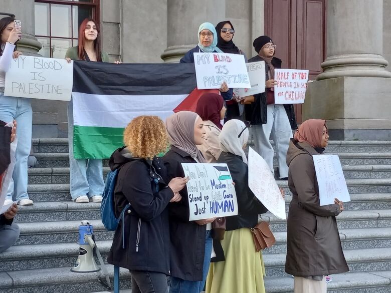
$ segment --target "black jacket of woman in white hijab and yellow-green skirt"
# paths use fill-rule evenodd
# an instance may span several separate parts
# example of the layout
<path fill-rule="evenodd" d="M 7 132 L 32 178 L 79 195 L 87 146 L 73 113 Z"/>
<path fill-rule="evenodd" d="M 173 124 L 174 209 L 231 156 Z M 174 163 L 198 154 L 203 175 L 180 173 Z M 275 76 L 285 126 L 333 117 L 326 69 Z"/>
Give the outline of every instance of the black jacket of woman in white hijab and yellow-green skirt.
<path fill-rule="evenodd" d="M 226 217 L 227 231 L 240 228 L 253 228 L 258 223 L 258 215 L 267 212 L 267 208 L 255 197 L 249 188 L 249 170 L 242 157 L 222 152 L 218 163 L 226 163 L 232 180 L 235 182 L 239 213 Z"/>

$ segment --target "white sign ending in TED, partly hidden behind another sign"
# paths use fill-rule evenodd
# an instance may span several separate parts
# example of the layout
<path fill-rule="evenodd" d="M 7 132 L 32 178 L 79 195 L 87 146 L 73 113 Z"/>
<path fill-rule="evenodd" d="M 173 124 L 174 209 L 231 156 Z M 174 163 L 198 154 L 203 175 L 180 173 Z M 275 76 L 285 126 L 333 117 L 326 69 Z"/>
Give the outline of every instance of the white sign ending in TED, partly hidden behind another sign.
<path fill-rule="evenodd" d="M 235 88 L 236 97 L 247 97 L 265 92 L 265 61 L 246 63 L 247 72 L 250 78 L 251 88 Z"/>

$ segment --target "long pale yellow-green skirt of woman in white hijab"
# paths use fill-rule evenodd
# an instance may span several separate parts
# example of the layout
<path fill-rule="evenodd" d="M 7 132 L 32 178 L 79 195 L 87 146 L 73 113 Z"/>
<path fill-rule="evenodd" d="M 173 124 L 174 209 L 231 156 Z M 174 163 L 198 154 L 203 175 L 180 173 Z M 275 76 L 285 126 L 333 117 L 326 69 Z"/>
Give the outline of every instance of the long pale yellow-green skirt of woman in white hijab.
<path fill-rule="evenodd" d="M 262 252 L 255 250 L 249 228 L 226 231 L 221 240 L 225 261 L 209 268 L 207 293 L 265 293 Z"/>

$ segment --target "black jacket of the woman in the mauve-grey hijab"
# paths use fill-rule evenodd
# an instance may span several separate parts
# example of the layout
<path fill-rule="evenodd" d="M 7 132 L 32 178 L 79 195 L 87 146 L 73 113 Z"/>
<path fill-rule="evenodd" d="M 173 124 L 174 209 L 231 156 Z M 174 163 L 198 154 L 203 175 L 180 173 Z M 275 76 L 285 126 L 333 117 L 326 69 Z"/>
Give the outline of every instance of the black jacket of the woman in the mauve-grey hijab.
<path fill-rule="evenodd" d="M 180 163 L 197 163 L 187 153 L 176 147 L 163 157 L 169 179 L 184 177 Z M 169 204 L 171 276 L 188 281 L 203 279 L 206 225 L 189 221 L 187 188 L 180 191 L 181 201 Z"/>

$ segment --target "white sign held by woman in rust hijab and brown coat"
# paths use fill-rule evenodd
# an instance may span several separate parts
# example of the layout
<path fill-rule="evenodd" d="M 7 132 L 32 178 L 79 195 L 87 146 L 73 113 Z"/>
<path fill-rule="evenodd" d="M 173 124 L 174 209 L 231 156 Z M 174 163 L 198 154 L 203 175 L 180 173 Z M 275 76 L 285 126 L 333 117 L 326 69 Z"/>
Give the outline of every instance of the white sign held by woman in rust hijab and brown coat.
<path fill-rule="evenodd" d="M 341 162 L 337 155 L 313 155 L 320 205 L 333 204 L 334 198 L 350 201 Z"/>

